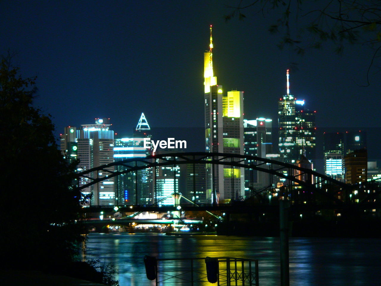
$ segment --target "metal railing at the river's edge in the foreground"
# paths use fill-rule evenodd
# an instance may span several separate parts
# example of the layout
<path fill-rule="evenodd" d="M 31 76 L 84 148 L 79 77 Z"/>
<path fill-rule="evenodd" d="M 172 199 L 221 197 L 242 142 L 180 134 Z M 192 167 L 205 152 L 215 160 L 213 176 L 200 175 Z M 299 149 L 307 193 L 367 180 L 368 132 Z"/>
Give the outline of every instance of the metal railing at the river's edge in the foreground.
<path fill-rule="evenodd" d="M 213 257 L 218 261 L 217 285 L 259 286 L 258 260 Z M 157 259 L 156 285 L 211 285 L 205 258 Z"/>

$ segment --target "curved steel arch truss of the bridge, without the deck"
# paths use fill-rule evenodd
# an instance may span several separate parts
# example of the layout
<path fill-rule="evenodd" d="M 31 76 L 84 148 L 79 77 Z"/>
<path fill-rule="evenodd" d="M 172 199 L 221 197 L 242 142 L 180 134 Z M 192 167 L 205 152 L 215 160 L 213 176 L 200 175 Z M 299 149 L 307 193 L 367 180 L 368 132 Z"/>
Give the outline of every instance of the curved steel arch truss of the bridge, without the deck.
<path fill-rule="evenodd" d="M 280 161 L 261 158 L 256 156 L 246 156 L 240 154 L 226 154 L 226 153 L 207 153 L 207 152 L 187 152 L 187 153 L 169 153 L 169 154 L 157 154 L 147 157 L 135 157 L 131 159 L 126 159 L 122 161 L 113 162 L 110 164 L 95 167 L 89 170 L 85 170 L 77 174 L 78 179 L 85 178 L 89 182 L 78 186 L 78 190 L 83 190 L 88 186 L 99 183 L 103 180 L 117 177 L 118 175 L 138 172 L 138 170 L 157 168 L 161 166 L 168 165 L 180 165 L 180 164 L 211 164 L 213 168 L 215 165 L 226 165 L 231 167 L 243 167 L 245 169 L 250 169 L 251 172 L 251 186 L 253 178 L 253 170 L 258 170 L 260 172 L 265 172 L 267 174 L 275 175 L 279 178 L 283 178 L 287 182 L 287 186 L 290 188 L 292 184 L 300 185 L 309 190 L 314 190 L 330 201 L 336 204 L 341 204 L 343 201 L 336 198 L 332 194 L 328 194 L 322 191 L 320 187 L 322 185 L 333 185 L 336 186 L 338 190 L 348 190 L 351 188 L 343 182 L 339 182 L 331 177 L 315 172 L 311 169 L 306 169 L 303 167 L 298 167 L 296 165 L 291 165 L 283 163 Z M 117 170 L 118 166 L 122 166 L 124 170 Z M 114 169 L 111 171 L 110 169 Z M 98 178 L 99 171 L 106 174 L 102 178 Z M 312 179 L 313 178 L 313 179 Z M 214 176 L 212 182 L 214 182 Z M 78 180 L 79 182 L 79 180 Z M 214 187 L 213 187 L 214 189 Z M 233 199 L 232 192 L 232 199 Z"/>

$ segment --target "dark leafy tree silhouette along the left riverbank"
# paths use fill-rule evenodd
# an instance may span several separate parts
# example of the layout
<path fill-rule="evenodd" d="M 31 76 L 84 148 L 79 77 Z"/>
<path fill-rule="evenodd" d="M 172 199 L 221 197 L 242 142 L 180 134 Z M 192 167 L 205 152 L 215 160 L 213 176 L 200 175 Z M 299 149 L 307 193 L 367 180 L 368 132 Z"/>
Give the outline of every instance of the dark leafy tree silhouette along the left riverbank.
<path fill-rule="evenodd" d="M 50 115 L 32 106 L 35 77 L 23 79 L 10 59 L 0 64 L 0 252 L 9 267 L 64 264 L 83 241 L 75 163 L 60 154 Z"/>

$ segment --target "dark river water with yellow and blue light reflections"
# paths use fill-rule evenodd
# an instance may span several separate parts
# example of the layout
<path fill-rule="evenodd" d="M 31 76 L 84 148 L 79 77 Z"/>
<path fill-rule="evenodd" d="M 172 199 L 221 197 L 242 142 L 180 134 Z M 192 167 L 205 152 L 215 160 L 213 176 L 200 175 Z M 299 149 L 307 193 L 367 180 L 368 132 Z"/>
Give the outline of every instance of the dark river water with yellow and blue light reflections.
<path fill-rule="evenodd" d="M 381 240 L 290 238 L 290 285 L 381 285 Z M 244 257 L 259 260 L 259 285 L 280 285 L 279 238 L 91 233 L 86 256 L 112 262 L 120 286 L 155 285 L 144 255 L 157 258 Z M 174 262 L 176 267 L 176 262 Z M 210 284 L 216 285 L 216 284 Z"/>

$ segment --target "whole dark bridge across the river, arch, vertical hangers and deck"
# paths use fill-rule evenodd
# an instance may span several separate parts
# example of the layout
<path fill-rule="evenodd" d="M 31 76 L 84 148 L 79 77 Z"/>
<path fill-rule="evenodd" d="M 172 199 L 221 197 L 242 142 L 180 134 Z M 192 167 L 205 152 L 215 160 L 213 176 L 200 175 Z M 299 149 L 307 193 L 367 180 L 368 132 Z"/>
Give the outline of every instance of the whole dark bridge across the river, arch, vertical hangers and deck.
<path fill-rule="evenodd" d="M 255 156 L 245 156 L 239 154 L 224 154 L 224 153 L 206 153 L 206 152 L 188 152 L 188 153 L 171 153 L 171 154 L 158 154 L 147 156 L 144 158 L 137 157 L 131 158 L 123 161 L 113 162 L 107 165 L 102 165 L 90 170 L 86 170 L 77 174 L 78 182 L 82 179 L 86 180 L 86 184 L 79 185 L 78 190 L 83 190 L 88 186 L 97 184 L 102 182 L 103 180 L 109 180 L 110 178 L 118 177 L 122 174 L 127 174 L 130 172 L 134 173 L 135 181 L 138 182 L 138 171 L 144 170 L 148 168 L 153 169 L 154 174 L 154 182 L 156 180 L 156 168 L 163 166 L 176 166 L 181 164 L 191 164 L 193 165 L 193 170 L 195 173 L 195 165 L 196 164 L 208 164 L 211 168 L 211 182 L 212 182 L 212 190 L 215 190 L 214 182 L 214 174 L 216 165 L 224 165 L 226 167 L 242 167 L 250 170 L 250 190 L 253 191 L 253 171 L 260 171 L 267 174 L 269 176 L 269 186 L 274 185 L 272 182 L 273 176 L 277 176 L 283 180 L 284 185 L 282 188 L 282 196 L 289 198 L 293 197 L 294 201 L 297 198 L 297 191 L 295 193 L 295 186 L 298 188 L 304 188 L 304 190 L 308 190 L 310 193 L 314 193 L 314 195 L 319 196 L 319 204 L 315 199 L 312 199 L 307 202 L 307 206 L 298 200 L 295 201 L 296 208 L 306 208 L 311 209 L 338 209 L 338 208 L 348 208 L 349 202 L 352 202 L 352 191 L 354 186 L 347 185 L 343 182 L 339 182 L 331 177 L 325 176 L 323 174 L 319 174 L 311 169 L 306 169 L 302 167 L 298 167 L 296 165 L 291 165 L 267 158 L 255 157 Z M 102 172 L 103 177 L 99 178 L 98 174 Z M 234 172 L 231 172 L 233 176 Z M 175 176 L 175 175 L 174 175 Z M 193 194 L 190 196 L 196 196 L 196 188 L 195 188 L 195 176 L 193 180 Z M 174 177 L 176 178 L 176 177 Z M 233 179 L 233 177 L 232 177 Z M 229 204 L 216 204 L 213 202 L 212 204 L 196 204 L 195 202 L 189 201 L 184 204 L 181 202 L 181 207 L 183 210 L 230 210 L 231 212 L 247 212 L 249 209 L 253 209 L 248 203 L 243 203 L 240 201 L 236 201 L 237 197 L 236 192 L 240 190 L 234 190 L 234 187 L 231 191 L 230 197 L 231 202 Z M 138 198 L 138 184 L 136 183 L 136 198 Z M 293 193 L 294 192 L 294 193 Z M 191 192 L 192 193 L 192 192 Z M 369 191 L 368 191 L 369 193 Z M 340 194 L 340 198 L 338 199 L 338 194 Z M 363 209 L 367 208 L 375 208 L 375 200 L 380 194 L 379 189 L 373 191 L 368 194 L 365 198 L 362 198 L 359 202 L 359 205 Z M 188 194 L 189 195 L 189 194 Z M 253 192 L 253 195 L 255 193 Z M 118 204 L 117 206 L 120 208 L 120 211 L 123 212 L 131 212 L 131 211 L 162 211 L 165 209 L 173 210 L 177 206 L 159 206 L 157 203 L 160 201 L 160 196 L 157 193 L 157 188 L 154 186 L 154 204 L 152 205 L 124 205 Z M 136 201 L 138 201 L 136 199 Z M 370 203 L 371 202 L 371 203 Z M 98 211 L 98 210 L 112 210 L 114 206 L 91 206 L 90 208 L 84 208 L 84 212 Z M 132 209 L 131 209 L 132 208 Z M 277 211 L 278 207 L 274 204 L 257 204 L 255 209 L 259 212 L 263 210 L 267 210 L 271 212 L 272 210 Z"/>

